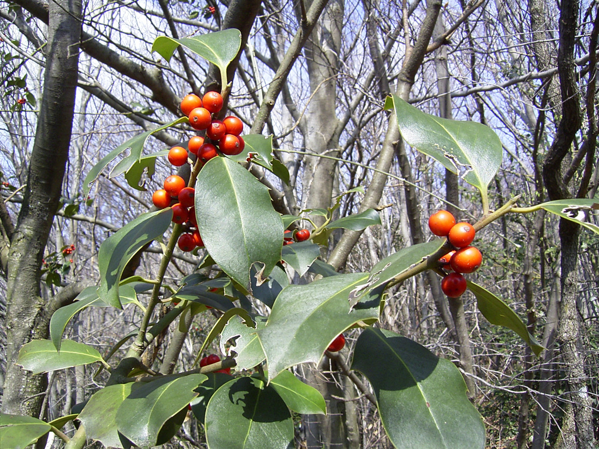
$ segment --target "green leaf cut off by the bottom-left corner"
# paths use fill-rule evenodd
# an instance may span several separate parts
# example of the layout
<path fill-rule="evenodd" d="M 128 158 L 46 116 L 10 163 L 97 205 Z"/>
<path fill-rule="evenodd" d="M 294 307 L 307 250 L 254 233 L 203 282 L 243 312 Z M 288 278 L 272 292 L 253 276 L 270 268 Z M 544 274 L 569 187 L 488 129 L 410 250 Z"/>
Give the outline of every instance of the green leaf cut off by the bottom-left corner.
<path fill-rule="evenodd" d="M 31 416 L 0 414 L 0 447 L 25 449 L 50 432 L 52 426 Z"/>

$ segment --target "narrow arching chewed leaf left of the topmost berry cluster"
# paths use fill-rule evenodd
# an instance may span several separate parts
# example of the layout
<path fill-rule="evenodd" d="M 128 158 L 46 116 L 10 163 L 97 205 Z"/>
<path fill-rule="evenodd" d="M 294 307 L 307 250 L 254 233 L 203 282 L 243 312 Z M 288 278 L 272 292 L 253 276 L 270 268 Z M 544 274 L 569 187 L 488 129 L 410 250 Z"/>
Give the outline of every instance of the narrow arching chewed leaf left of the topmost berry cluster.
<path fill-rule="evenodd" d="M 187 117 L 181 117 L 174 122 L 167 123 L 167 125 L 152 129 L 152 131 L 146 131 L 138 134 L 137 136 L 126 141 L 124 144 L 114 148 L 114 150 L 110 151 L 110 153 L 108 153 L 106 156 L 102 157 L 102 159 L 100 159 L 99 162 L 92 167 L 83 181 L 83 196 L 87 197 L 92 184 L 96 179 L 98 179 L 100 173 L 108 166 L 109 163 L 116 159 L 119 154 L 126 152 L 129 153 L 128 156 L 123 157 L 123 159 L 120 160 L 110 171 L 110 174 L 108 175 L 110 178 L 117 177 L 118 175 L 128 171 L 129 168 L 134 165 L 134 163 L 140 160 L 141 151 L 143 151 L 144 145 L 146 144 L 146 140 L 149 136 L 155 134 L 156 132 L 171 128 L 172 126 L 179 125 L 180 123 L 189 123 L 189 119 Z"/>

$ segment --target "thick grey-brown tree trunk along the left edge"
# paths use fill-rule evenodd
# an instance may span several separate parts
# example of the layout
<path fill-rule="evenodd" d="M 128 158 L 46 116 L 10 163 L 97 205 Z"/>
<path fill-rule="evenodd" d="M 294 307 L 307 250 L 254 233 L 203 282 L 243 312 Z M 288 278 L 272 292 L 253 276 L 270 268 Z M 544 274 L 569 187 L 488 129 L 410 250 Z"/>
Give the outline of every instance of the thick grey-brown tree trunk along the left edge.
<path fill-rule="evenodd" d="M 2 412 L 40 415 L 46 375 L 15 365 L 19 350 L 47 338 L 50 314 L 40 297 L 40 266 L 58 209 L 77 86 L 81 2 L 49 5 L 44 91 L 23 205 L 14 231 L 7 280 L 7 372 Z"/>

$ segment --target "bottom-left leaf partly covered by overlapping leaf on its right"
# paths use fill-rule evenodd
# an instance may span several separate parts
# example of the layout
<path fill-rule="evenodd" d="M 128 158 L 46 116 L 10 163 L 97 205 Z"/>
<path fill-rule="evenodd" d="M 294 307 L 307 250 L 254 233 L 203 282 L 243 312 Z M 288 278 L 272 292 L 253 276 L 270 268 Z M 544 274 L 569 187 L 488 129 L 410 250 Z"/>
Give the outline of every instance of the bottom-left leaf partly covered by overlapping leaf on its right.
<path fill-rule="evenodd" d="M 105 447 L 123 447 L 128 440 L 117 430 L 116 412 L 132 387 L 140 387 L 133 382 L 115 384 L 94 393 L 79 414 L 79 420 L 87 438 L 101 442 Z"/>

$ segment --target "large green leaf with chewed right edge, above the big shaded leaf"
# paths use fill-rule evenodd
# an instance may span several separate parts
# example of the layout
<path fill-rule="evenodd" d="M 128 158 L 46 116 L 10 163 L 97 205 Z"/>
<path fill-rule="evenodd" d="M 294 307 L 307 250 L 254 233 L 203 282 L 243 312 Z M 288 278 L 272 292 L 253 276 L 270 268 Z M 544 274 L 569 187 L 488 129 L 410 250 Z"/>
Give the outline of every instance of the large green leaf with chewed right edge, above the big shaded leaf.
<path fill-rule="evenodd" d="M 269 380 L 298 363 L 319 362 L 328 345 L 345 329 L 358 321 L 377 320 L 380 300 L 352 311 L 347 301 L 349 292 L 367 278 L 366 273 L 340 274 L 283 289 L 266 326 L 258 330 Z"/>

